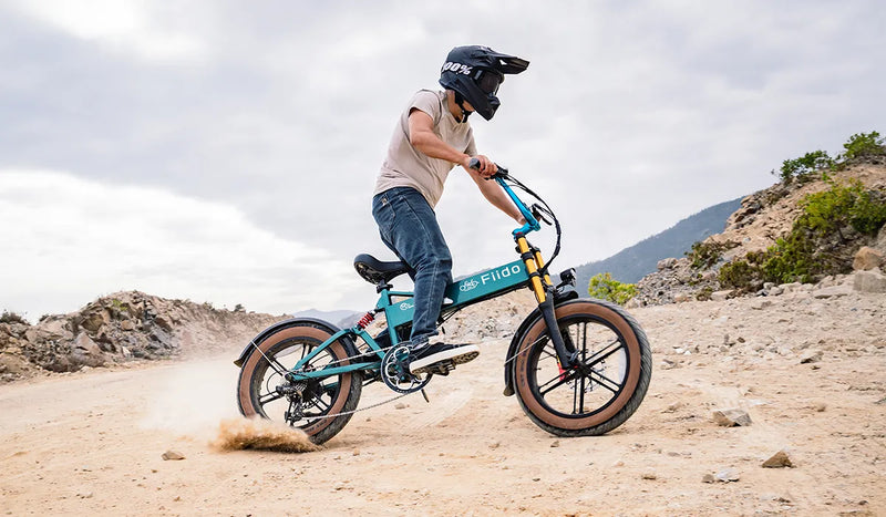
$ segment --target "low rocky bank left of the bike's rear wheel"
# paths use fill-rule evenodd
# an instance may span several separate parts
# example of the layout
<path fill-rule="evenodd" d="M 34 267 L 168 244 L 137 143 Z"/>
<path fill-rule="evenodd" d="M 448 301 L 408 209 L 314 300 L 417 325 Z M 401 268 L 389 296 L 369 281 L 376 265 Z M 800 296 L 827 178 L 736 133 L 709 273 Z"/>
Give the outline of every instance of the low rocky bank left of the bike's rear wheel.
<path fill-rule="evenodd" d="M 218 310 L 138 291 L 100 298 L 76 312 L 31 325 L 14 314 L 0 320 L 0 380 L 39 372 L 74 372 L 138 360 L 212 353 L 246 343 L 284 317 Z"/>

